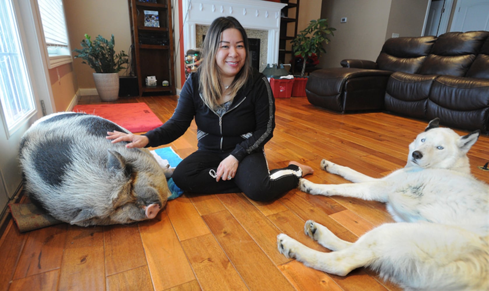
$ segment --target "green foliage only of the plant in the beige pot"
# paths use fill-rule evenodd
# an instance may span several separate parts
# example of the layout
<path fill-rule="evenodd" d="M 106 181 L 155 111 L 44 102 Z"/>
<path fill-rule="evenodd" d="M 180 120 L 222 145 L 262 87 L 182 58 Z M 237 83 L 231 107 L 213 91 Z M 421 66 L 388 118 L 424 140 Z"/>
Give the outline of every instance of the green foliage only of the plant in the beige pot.
<path fill-rule="evenodd" d="M 85 39 L 80 42 L 82 49 L 74 49 L 78 53 L 75 59 L 84 60 L 96 73 L 118 73 L 125 69 L 123 65 L 129 63 L 129 57 L 121 50 L 118 54 L 114 51 L 114 35 L 108 41 L 102 36 L 97 36 L 92 42 L 90 36 L 85 34 Z"/>

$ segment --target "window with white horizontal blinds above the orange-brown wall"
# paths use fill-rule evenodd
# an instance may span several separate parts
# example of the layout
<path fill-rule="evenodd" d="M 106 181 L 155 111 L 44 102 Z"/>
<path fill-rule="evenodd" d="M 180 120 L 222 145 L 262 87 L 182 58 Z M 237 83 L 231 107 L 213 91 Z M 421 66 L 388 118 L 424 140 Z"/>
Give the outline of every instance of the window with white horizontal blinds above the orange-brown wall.
<path fill-rule="evenodd" d="M 49 68 L 71 62 L 62 0 L 38 0 Z"/>

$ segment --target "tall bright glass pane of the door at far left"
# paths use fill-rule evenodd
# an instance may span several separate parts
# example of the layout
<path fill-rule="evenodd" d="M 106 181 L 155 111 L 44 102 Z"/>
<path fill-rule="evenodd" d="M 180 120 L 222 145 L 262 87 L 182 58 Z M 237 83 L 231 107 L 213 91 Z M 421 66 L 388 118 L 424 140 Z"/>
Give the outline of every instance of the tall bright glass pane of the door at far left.
<path fill-rule="evenodd" d="M 0 103 L 8 135 L 36 112 L 18 27 L 12 0 L 1 0 Z"/>

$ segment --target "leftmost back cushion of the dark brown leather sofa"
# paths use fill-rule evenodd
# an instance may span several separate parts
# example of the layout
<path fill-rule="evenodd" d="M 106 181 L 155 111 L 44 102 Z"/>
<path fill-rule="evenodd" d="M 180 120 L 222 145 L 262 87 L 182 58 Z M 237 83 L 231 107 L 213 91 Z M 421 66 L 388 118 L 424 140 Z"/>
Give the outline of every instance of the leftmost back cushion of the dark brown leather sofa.
<path fill-rule="evenodd" d="M 416 73 L 436 39 L 434 36 L 388 39 L 377 58 L 378 68 Z"/>

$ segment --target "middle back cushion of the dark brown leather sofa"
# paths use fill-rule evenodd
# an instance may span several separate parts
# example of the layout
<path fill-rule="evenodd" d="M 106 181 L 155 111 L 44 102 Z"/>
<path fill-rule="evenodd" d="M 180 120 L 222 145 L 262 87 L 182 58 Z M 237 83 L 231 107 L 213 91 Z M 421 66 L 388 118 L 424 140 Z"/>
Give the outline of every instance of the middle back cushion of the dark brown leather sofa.
<path fill-rule="evenodd" d="M 465 76 L 488 31 L 447 32 L 438 37 L 419 74 Z"/>

